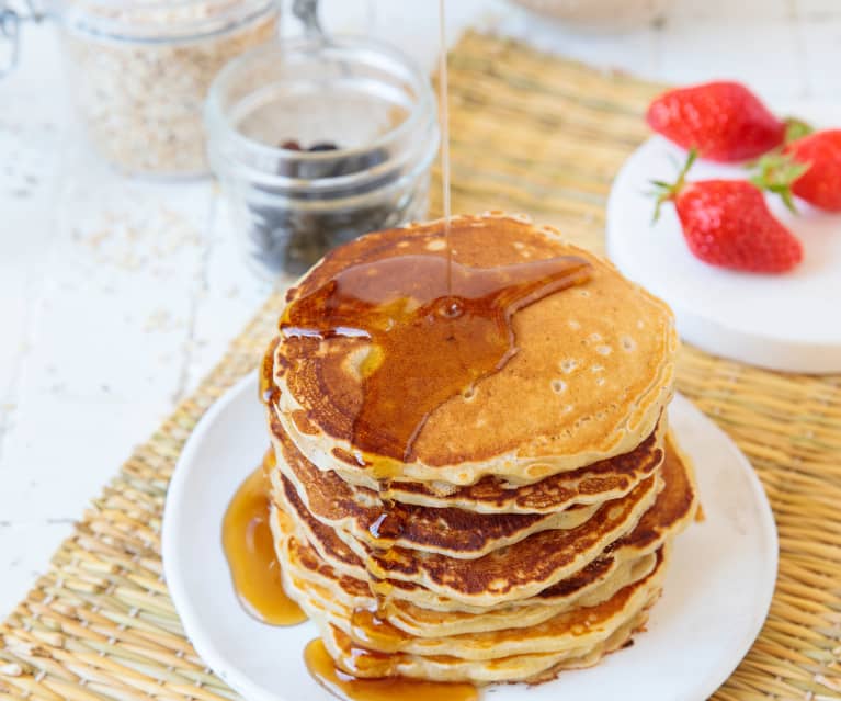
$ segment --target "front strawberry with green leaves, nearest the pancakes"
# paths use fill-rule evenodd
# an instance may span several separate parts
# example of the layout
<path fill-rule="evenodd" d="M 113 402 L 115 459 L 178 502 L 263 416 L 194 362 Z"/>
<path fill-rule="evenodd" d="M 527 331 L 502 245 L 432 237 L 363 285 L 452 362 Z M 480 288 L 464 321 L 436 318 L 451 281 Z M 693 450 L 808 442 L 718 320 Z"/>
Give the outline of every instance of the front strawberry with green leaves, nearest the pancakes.
<path fill-rule="evenodd" d="M 687 182 L 686 166 L 673 184 L 656 181 L 663 202 L 673 202 L 692 253 L 711 265 L 746 272 L 782 273 L 803 260 L 800 241 L 769 211 L 762 191 L 746 180 Z"/>

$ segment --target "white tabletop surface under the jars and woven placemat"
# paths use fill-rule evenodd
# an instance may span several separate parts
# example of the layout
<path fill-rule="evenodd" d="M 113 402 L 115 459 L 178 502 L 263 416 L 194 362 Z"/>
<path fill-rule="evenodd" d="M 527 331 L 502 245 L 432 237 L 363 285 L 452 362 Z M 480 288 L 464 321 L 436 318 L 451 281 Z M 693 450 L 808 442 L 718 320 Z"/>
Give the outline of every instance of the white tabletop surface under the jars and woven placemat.
<path fill-rule="evenodd" d="M 436 3 L 323 5 L 329 29 L 434 66 Z M 779 102 L 841 102 L 837 0 L 672 0 L 661 22 L 606 36 L 501 0 L 448 0 L 448 13 L 453 37 L 481 22 L 662 80 L 735 77 Z M 52 31 L 22 38 L 21 65 L 0 79 L 0 618 L 268 293 L 215 185 L 130 182 L 92 161 L 71 136 Z"/>

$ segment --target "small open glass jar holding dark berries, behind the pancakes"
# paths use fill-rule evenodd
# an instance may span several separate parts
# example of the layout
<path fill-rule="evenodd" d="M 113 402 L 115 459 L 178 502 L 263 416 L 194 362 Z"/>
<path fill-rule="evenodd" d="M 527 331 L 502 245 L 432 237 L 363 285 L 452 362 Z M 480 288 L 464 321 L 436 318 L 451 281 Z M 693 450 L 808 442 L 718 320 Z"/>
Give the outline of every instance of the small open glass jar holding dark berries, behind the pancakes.
<path fill-rule="evenodd" d="M 268 276 L 299 274 L 333 246 L 423 218 L 436 114 L 429 78 L 368 39 L 302 38 L 235 59 L 205 123 L 248 259 Z"/>

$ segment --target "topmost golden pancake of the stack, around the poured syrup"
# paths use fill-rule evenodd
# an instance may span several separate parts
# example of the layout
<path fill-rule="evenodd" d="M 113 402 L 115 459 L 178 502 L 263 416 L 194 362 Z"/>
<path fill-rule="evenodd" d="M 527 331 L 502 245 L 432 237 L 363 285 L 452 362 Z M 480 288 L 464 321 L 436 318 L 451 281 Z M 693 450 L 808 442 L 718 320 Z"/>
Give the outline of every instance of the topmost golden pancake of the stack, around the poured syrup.
<path fill-rule="evenodd" d="M 456 217 L 450 236 L 453 260 L 463 265 L 578 256 L 592 264 L 591 276 L 513 315 L 514 355 L 433 409 L 408 461 L 352 444 L 360 366 L 377 351 L 367 339 L 282 336 L 269 363 L 279 389 L 270 404 L 299 450 L 321 470 L 377 488 L 383 479 L 470 485 L 486 475 L 530 484 L 643 442 L 671 396 L 678 341 L 669 308 L 610 263 L 523 219 Z M 328 253 L 287 301 L 351 265 L 443 249 L 443 222 L 370 234 Z M 420 381 L 435 372 L 422 355 L 407 366 Z"/>

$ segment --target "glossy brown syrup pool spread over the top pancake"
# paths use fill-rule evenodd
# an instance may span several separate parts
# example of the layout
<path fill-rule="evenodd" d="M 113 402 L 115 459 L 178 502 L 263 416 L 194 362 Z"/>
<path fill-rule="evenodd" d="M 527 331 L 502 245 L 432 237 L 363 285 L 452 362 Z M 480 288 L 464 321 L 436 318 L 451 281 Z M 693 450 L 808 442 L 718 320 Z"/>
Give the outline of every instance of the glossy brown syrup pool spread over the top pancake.
<path fill-rule="evenodd" d="M 345 268 L 295 301 L 281 332 L 370 341 L 351 442 L 410 462 L 430 414 L 515 353 L 514 313 L 584 282 L 589 271 L 575 256 L 497 268 L 464 265 L 440 252 L 396 256 Z"/>

